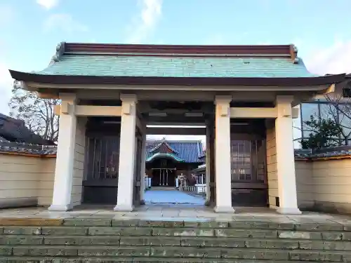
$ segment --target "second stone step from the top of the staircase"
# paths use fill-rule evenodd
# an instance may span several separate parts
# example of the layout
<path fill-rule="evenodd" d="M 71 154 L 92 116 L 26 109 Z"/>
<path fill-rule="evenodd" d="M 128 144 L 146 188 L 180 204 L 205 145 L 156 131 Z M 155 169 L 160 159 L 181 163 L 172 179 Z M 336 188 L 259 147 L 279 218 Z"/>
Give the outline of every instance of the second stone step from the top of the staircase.
<path fill-rule="evenodd" d="M 351 241 L 349 231 L 291 231 L 271 229 L 230 228 L 163 228 L 163 227 L 20 227 L 0 229 L 4 235 L 43 236 L 198 236 L 231 238 L 310 239 L 324 241 Z"/>

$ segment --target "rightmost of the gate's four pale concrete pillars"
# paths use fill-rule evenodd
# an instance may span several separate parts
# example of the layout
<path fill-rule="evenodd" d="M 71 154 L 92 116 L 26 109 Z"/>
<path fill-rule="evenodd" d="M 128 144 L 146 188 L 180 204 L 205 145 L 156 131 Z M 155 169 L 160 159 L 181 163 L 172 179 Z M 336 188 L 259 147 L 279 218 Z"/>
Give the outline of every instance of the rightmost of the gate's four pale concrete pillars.
<path fill-rule="evenodd" d="M 296 194 L 295 158 L 293 153 L 293 118 L 291 102 L 293 96 L 277 96 L 278 111 L 275 120 L 277 150 L 278 213 L 300 215 Z"/>

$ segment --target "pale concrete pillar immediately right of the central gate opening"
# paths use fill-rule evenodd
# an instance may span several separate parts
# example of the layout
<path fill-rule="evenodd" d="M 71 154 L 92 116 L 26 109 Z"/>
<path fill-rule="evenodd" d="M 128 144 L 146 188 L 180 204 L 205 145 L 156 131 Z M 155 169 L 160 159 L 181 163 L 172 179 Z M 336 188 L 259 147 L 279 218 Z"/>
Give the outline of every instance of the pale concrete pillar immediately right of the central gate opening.
<path fill-rule="evenodd" d="M 216 207 L 217 213 L 234 213 L 230 170 L 230 96 L 216 96 Z"/>

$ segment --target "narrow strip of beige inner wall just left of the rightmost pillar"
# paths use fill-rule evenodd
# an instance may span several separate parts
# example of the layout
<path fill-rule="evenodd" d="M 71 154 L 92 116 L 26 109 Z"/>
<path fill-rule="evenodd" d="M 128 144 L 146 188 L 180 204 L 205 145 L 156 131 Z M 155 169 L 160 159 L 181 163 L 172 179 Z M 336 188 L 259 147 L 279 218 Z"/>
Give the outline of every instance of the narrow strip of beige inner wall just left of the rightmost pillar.
<path fill-rule="evenodd" d="M 270 204 L 270 208 L 277 208 L 275 198 L 278 196 L 278 178 L 274 121 L 267 121 L 266 126 L 268 203 Z"/>

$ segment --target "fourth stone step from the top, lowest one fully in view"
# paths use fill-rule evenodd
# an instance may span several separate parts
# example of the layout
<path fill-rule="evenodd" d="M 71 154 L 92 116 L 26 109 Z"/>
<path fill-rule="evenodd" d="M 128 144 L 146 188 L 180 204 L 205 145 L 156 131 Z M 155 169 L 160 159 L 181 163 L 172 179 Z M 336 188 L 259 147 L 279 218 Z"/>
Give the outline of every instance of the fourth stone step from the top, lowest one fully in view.
<path fill-rule="evenodd" d="M 320 250 L 267 250 L 263 248 L 184 248 L 177 246 L 3 246 L 0 256 L 15 257 L 190 257 L 204 259 L 278 259 L 314 262 L 350 262 L 351 252 Z"/>

